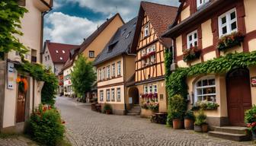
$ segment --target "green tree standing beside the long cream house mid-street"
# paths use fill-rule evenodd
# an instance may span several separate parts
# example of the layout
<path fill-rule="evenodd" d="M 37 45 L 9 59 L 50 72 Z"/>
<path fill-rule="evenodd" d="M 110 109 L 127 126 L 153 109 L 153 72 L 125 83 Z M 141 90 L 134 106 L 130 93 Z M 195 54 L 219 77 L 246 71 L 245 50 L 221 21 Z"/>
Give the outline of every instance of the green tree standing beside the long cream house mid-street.
<path fill-rule="evenodd" d="M 76 94 L 82 96 L 91 90 L 92 84 L 96 81 L 96 74 L 91 62 L 84 56 L 78 56 L 71 73 L 72 87 Z"/>

